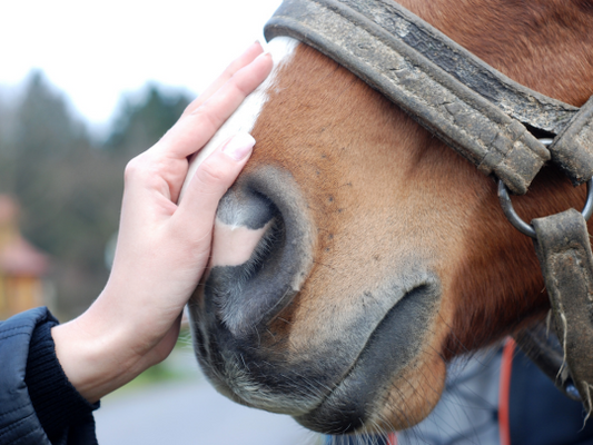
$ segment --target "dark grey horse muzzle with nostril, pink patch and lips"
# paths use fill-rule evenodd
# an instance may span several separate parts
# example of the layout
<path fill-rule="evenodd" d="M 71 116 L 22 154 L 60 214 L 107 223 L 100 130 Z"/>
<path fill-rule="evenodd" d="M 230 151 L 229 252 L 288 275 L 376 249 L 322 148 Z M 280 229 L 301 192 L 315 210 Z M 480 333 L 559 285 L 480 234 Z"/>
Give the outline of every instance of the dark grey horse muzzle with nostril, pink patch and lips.
<path fill-rule="evenodd" d="M 402 260 L 395 278 L 352 296 L 350 309 L 319 301 L 327 323 L 312 318 L 303 330 L 295 313 L 317 229 L 298 190 L 288 172 L 266 166 L 220 201 L 210 268 L 189 304 L 195 350 L 235 402 L 318 432 L 355 432 L 421 350 L 439 281 L 422 261 Z"/>

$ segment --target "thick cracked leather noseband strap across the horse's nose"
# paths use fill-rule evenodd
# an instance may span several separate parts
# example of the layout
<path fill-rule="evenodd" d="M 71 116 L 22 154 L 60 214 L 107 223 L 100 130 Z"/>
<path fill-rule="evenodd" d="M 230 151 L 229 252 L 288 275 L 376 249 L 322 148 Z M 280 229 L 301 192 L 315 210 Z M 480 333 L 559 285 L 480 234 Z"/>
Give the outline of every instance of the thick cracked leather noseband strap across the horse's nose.
<path fill-rule="evenodd" d="M 392 1 L 285 0 L 265 36 L 336 60 L 515 194 L 550 158 L 521 122 L 557 132 L 579 110 L 514 82 Z"/>

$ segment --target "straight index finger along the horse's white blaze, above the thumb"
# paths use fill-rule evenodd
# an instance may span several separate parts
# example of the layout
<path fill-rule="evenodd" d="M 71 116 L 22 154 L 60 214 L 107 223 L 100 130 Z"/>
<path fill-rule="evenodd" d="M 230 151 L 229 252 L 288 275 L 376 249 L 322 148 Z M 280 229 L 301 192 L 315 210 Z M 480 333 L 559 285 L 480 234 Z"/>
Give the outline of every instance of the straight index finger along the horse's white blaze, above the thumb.
<path fill-rule="evenodd" d="M 251 63 L 238 70 L 209 100 L 181 118 L 155 148 L 174 159 L 185 159 L 198 151 L 264 81 L 271 71 L 271 66 L 269 53 L 259 55 Z"/>

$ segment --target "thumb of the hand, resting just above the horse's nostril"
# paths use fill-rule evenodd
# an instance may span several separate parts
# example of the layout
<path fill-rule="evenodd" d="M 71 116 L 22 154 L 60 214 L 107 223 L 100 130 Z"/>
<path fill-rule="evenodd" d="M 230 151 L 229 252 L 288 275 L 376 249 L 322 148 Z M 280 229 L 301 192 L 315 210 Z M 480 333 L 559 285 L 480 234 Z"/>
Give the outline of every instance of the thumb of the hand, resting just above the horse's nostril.
<path fill-rule="evenodd" d="M 239 134 L 208 156 L 196 170 L 174 217 L 191 227 L 192 231 L 209 231 L 218 201 L 237 179 L 254 145 L 255 139 L 250 135 Z"/>

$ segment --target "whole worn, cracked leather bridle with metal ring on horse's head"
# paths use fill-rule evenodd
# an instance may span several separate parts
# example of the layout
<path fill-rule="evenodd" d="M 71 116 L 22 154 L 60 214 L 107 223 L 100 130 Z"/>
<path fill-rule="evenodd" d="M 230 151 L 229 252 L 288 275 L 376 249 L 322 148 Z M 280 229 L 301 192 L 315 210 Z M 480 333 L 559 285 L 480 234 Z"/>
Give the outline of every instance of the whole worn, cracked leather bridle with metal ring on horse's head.
<path fill-rule="evenodd" d="M 593 97 L 579 109 L 533 91 L 392 0 L 284 0 L 264 32 L 268 41 L 293 37 L 334 59 L 498 178 L 505 215 L 534 240 L 554 317 L 554 333 L 540 324 L 515 339 L 591 413 L 593 255 L 586 219 L 593 212 Z M 570 209 L 526 224 L 506 189 L 525 194 L 547 160 L 574 186 L 587 182 L 587 201 L 583 212 Z"/>

